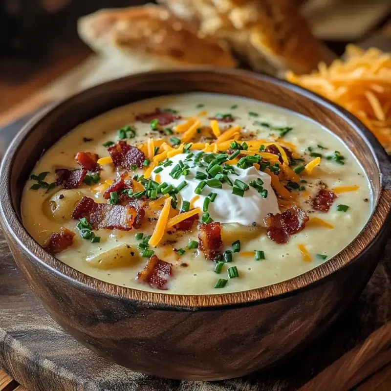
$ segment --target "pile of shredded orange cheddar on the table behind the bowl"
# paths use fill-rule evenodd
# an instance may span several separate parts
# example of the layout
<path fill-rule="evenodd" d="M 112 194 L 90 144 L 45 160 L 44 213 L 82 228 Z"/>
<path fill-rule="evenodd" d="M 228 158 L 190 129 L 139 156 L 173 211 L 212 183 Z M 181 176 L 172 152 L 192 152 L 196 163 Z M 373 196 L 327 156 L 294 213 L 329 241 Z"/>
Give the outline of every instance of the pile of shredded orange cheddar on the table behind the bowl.
<path fill-rule="evenodd" d="M 289 71 L 286 79 L 341 105 L 359 118 L 391 152 L 391 54 L 371 48 L 347 47 L 347 61 L 309 75 Z"/>

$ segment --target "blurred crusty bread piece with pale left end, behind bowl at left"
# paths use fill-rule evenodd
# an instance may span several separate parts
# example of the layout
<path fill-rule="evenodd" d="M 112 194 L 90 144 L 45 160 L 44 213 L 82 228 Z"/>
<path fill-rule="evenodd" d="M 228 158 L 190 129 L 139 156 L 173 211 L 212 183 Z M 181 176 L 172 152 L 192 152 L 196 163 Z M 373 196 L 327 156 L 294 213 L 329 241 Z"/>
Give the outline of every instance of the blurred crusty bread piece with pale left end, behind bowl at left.
<path fill-rule="evenodd" d="M 125 65 L 134 67 L 135 72 L 236 65 L 226 43 L 199 36 L 192 22 L 154 4 L 95 12 L 80 19 L 78 31 L 95 51 L 127 59 Z"/>

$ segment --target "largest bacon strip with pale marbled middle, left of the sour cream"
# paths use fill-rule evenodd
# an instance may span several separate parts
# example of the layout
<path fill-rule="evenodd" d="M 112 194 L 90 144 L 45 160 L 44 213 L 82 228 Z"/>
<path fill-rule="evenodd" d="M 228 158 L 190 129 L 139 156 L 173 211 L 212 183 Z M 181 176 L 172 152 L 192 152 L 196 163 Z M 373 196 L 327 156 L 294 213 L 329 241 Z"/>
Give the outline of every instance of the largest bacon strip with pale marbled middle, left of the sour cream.
<path fill-rule="evenodd" d="M 97 204 L 92 198 L 84 196 L 72 212 L 72 217 L 86 217 L 94 229 L 119 229 L 130 231 L 137 211 L 130 205 Z"/>

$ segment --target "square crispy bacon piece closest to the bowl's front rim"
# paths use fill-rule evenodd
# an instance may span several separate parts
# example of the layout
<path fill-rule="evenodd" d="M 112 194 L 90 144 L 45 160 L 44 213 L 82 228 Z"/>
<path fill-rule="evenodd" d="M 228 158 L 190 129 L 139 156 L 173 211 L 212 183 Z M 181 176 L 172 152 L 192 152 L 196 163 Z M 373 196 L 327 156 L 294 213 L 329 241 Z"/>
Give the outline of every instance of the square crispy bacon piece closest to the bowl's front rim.
<path fill-rule="evenodd" d="M 148 282 L 153 288 L 168 289 L 167 282 L 172 275 L 173 265 L 152 255 L 144 269 L 137 273 L 136 280 Z"/>

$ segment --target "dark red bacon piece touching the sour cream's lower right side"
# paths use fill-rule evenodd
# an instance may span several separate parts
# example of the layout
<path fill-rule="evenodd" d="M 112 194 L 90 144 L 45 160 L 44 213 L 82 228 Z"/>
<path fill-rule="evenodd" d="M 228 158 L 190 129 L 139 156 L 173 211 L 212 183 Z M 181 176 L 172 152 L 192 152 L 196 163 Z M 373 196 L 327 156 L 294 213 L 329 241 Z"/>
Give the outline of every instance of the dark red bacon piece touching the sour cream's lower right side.
<path fill-rule="evenodd" d="M 267 236 L 276 243 L 282 244 L 286 243 L 291 235 L 302 231 L 308 220 L 305 211 L 294 205 L 281 214 L 269 213 L 263 219 L 263 223 L 267 229 Z"/>

